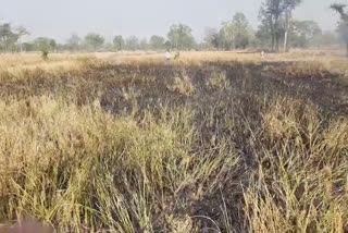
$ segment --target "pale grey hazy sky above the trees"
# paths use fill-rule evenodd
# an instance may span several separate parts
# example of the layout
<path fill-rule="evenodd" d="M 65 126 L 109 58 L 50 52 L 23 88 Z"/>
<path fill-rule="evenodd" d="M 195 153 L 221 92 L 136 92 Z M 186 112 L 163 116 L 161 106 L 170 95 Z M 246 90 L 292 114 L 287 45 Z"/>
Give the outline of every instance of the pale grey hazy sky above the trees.
<path fill-rule="evenodd" d="M 338 16 L 328 5 L 348 0 L 303 0 L 295 16 L 314 20 L 323 29 L 334 29 Z M 121 34 L 149 37 L 165 35 L 173 23 L 185 23 L 202 38 L 206 27 L 219 27 L 237 11 L 258 25 L 261 0 L 0 0 L 0 20 L 23 25 L 32 37 L 48 36 L 64 41 L 72 33 L 98 32 L 107 38 Z"/>

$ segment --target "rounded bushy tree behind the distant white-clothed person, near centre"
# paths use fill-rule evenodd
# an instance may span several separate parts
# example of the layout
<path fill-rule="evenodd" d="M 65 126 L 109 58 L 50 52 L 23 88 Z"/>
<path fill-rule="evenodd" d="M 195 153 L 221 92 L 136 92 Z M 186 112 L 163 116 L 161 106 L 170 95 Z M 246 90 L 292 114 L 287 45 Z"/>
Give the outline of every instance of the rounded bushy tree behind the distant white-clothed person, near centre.
<path fill-rule="evenodd" d="M 167 38 L 173 49 L 191 49 L 196 41 L 192 36 L 192 29 L 184 24 L 174 24 L 167 33 Z"/>

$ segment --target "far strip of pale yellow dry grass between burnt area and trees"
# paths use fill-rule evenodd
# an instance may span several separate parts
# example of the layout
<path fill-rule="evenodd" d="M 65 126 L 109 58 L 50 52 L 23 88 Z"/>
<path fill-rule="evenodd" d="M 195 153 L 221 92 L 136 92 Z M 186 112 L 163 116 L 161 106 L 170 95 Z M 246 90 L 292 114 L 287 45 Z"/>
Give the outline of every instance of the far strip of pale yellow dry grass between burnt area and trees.
<path fill-rule="evenodd" d="M 20 71 L 42 69 L 47 71 L 70 71 L 82 69 L 82 60 L 97 59 L 114 63 L 164 63 L 164 52 L 157 51 L 121 51 L 121 52 L 80 52 L 50 53 L 49 60 L 44 61 L 38 52 L 23 54 L 1 54 L 0 71 Z M 258 51 L 182 51 L 174 64 L 199 64 L 201 62 L 310 62 L 335 72 L 348 72 L 348 61 L 341 57 L 339 49 L 294 49 L 287 53 L 265 53 L 261 59 Z"/>

